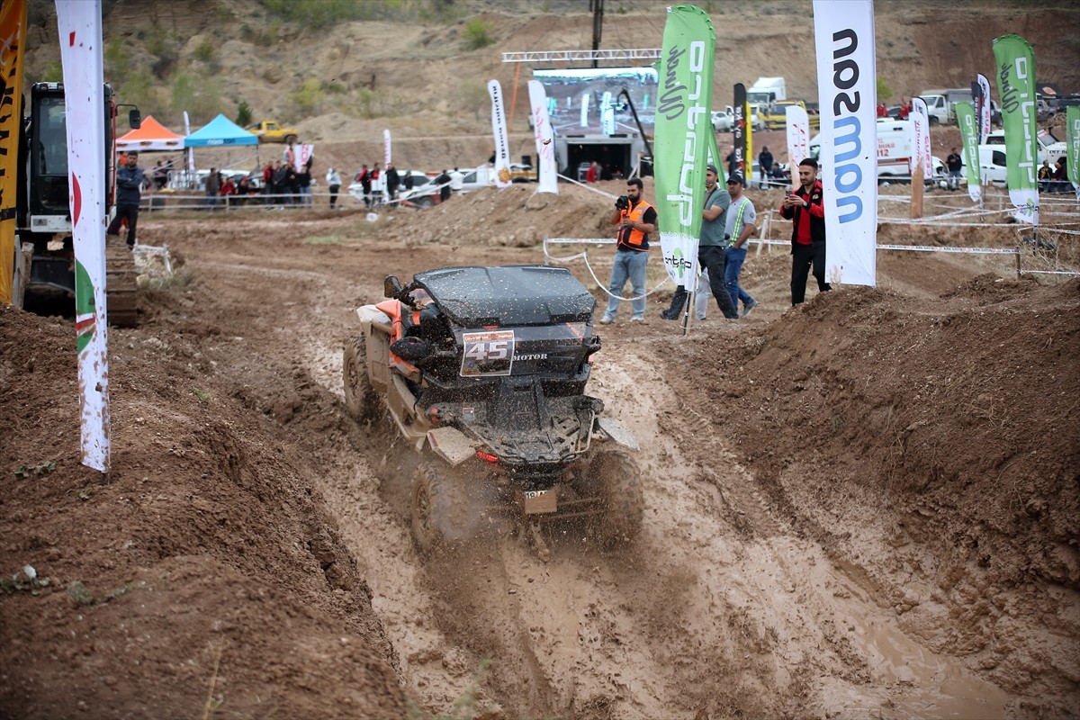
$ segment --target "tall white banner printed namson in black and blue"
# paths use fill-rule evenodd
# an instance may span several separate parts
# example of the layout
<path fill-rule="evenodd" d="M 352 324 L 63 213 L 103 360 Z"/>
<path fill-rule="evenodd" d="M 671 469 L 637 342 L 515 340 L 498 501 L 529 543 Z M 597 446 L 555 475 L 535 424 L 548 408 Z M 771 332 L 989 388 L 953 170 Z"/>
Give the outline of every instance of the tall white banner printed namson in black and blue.
<path fill-rule="evenodd" d="M 877 70 L 872 0 L 814 0 L 825 276 L 874 286 L 877 272 Z"/>

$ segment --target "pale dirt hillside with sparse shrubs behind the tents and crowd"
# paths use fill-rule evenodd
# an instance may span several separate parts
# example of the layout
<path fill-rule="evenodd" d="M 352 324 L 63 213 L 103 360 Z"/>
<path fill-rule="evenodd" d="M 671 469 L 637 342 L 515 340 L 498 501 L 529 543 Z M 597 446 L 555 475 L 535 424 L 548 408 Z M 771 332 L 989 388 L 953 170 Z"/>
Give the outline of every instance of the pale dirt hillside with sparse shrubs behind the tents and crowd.
<path fill-rule="evenodd" d="M 670 4 L 606 3 L 600 47 L 659 47 Z M 31 13 L 38 25 L 27 43 L 28 79 L 58 67 L 50 5 Z M 382 131 L 389 128 L 399 168 L 438 172 L 475 166 L 490 153 L 484 85 L 492 78 L 513 111 L 512 157 L 535 153 L 525 81 L 532 69 L 551 64 L 503 63 L 502 53 L 592 47 L 586 0 L 368 0 L 366 5 L 377 19 L 315 29 L 283 22 L 257 0 L 109 2 L 106 80 L 117 84 L 121 101 L 138 104 L 177 132 L 184 110 L 199 126 L 218 112 L 235 118 L 243 101 L 255 121 L 297 126 L 302 141 L 316 145 L 323 167 L 353 172 L 381 160 Z M 789 96 L 816 103 L 810 0 L 701 6 L 716 31 L 714 106 L 732 101 L 734 83 L 748 85 L 761 76 L 783 76 Z M 470 49 L 470 22 L 485 24 L 491 44 Z M 1008 32 L 1032 43 L 1040 82 L 1080 92 L 1080 14 L 1071 2 L 964 0 L 944 6 L 905 0 L 878 3 L 875 22 L 877 74 L 891 91 L 890 105 L 928 89 L 967 87 L 975 72 L 990 77 L 993 85 L 993 40 Z M 181 84 L 192 85 L 187 103 L 189 94 L 176 90 L 180 77 Z M 306 82 L 321 89 L 310 107 L 295 99 Z M 996 86 L 993 92 L 997 98 Z M 785 146 L 771 145 L 773 151 Z M 224 159 L 200 153 L 197 161 L 204 168 L 256 165 L 249 151 Z"/>

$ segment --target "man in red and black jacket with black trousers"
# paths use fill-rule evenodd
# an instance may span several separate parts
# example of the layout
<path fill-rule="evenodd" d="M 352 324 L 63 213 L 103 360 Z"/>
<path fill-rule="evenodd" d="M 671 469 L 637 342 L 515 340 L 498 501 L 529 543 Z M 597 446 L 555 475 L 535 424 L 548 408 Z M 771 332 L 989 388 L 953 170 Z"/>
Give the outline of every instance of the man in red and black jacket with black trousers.
<path fill-rule="evenodd" d="M 818 181 L 818 161 L 807 158 L 799 163 L 801 186 L 788 192 L 780 205 L 780 216 L 792 220 L 792 304 L 806 299 L 807 275 L 813 276 L 822 293 L 833 289 L 825 282 L 825 206 Z"/>

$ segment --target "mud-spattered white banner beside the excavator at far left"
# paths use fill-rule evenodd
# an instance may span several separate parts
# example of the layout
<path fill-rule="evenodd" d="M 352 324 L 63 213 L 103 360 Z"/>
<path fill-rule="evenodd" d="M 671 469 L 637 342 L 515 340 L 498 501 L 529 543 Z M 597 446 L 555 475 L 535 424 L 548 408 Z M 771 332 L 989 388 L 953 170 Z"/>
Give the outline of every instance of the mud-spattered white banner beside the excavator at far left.
<path fill-rule="evenodd" d="M 100 0 L 56 0 L 67 110 L 68 185 L 75 239 L 76 347 L 82 464 L 110 464 L 105 227 L 108 222 Z M 111 149 L 110 149 L 111 150 Z"/>

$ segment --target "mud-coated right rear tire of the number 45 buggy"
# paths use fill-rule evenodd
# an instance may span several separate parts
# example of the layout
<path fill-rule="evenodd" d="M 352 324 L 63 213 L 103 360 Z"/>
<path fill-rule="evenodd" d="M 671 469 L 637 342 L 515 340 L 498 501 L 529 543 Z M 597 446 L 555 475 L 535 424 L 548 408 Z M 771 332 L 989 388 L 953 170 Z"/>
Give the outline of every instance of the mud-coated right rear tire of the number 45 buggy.
<path fill-rule="evenodd" d="M 590 530 L 602 545 L 613 547 L 633 540 L 642 529 L 645 497 L 642 472 L 622 450 L 597 452 L 589 464 L 582 489 L 596 495 L 603 508 Z"/>

